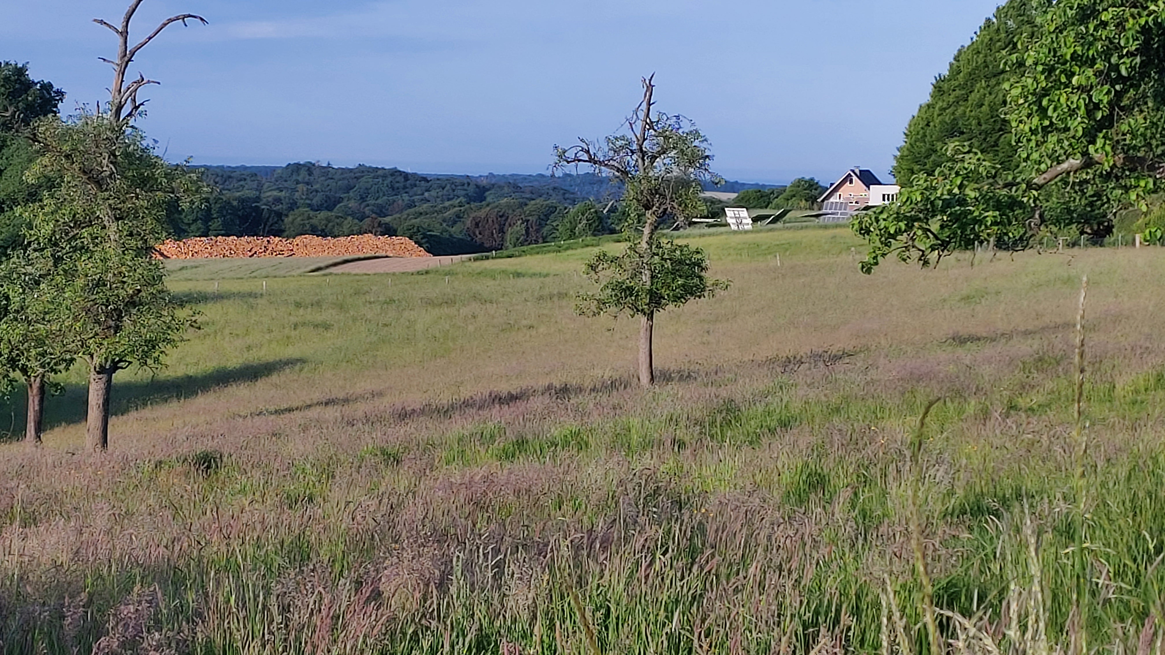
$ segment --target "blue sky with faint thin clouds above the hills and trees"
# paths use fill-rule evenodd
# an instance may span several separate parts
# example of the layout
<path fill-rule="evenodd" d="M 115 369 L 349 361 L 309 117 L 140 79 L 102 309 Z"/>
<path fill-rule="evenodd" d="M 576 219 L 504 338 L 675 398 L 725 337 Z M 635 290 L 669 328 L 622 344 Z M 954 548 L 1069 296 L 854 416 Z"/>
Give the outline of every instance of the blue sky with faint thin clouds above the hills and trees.
<path fill-rule="evenodd" d="M 0 0 L 0 59 L 104 98 L 127 0 Z M 601 136 L 655 72 L 728 178 L 883 175 L 935 75 L 996 0 L 146 0 L 141 125 L 167 156 L 424 172 L 544 172 Z"/>

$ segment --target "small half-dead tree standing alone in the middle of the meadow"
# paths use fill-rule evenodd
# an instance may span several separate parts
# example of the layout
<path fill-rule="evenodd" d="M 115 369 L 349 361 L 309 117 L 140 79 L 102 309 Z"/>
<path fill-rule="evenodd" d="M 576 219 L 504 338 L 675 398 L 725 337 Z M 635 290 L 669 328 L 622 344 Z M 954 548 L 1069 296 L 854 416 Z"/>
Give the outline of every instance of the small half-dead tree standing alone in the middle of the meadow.
<path fill-rule="evenodd" d="M 723 281 L 708 280 L 702 251 L 659 238 L 662 225 L 683 226 L 700 216 L 706 210 L 700 181 L 720 178 L 711 170 L 704 134 L 683 117 L 656 112 L 654 96 L 652 76 L 643 79 L 643 101 L 627 119 L 627 132 L 555 147 L 556 171 L 585 165 L 623 183 L 630 245 L 621 255 L 601 252 L 586 265 L 600 289 L 580 297 L 579 311 L 640 317 L 638 369 L 644 387 L 655 383 L 656 314 L 727 288 Z"/>

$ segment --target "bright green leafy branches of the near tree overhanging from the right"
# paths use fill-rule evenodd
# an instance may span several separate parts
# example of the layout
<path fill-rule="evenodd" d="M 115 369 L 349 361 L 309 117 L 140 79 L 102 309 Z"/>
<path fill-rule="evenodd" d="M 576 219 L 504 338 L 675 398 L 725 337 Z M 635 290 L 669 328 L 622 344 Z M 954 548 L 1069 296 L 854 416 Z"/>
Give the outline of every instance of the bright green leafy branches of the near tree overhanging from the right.
<path fill-rule="evenodd" d="M 863 212 L 868 272 L 897 253 L 924 266 L 968 244 L 1029 247 L 1047 231 L 1101 238 L 1165 178 L 1165 3 L 1059 0 L 1008 59 L 1010 167 L 948 139 L 948 161 Z M 990 165 L 988 165 L 990 164 Z"/>

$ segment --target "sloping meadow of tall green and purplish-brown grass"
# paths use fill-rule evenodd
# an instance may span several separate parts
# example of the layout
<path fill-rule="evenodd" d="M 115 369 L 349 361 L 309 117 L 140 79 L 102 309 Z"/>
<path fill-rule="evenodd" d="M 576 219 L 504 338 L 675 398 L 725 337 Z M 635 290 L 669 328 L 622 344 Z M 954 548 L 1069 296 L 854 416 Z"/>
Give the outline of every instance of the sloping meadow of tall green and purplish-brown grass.
<path fill-rule="evenodd" d="M 0 443 L 0 654 L 1159 652 L 1165 251 L 691 242 L 732 287 L 649 392 L 574 315 L 594 248 L 175 269 L 200 329 L 118 375 L 107 456 L 79 369 Z"/>

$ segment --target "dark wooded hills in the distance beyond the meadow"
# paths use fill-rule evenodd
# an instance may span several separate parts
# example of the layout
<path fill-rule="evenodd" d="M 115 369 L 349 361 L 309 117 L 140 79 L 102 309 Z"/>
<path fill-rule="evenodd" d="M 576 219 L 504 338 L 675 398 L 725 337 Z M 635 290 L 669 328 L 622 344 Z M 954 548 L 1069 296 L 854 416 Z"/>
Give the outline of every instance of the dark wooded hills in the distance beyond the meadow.
<path fill-rule="evenodd" d="M 622 189 L 585 175 L 418 175 L 395 168 L 199 167 L 214 189 L 175 209 L 176 238 L 403 235 L 433 254 L 504 249 L 614 232 Z M 776 189 L 729 182 L 716 190 Z M 722 211 L 709 202 L 708 212 Z"/>

